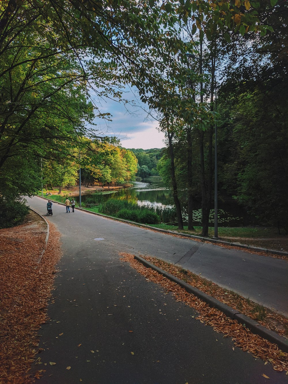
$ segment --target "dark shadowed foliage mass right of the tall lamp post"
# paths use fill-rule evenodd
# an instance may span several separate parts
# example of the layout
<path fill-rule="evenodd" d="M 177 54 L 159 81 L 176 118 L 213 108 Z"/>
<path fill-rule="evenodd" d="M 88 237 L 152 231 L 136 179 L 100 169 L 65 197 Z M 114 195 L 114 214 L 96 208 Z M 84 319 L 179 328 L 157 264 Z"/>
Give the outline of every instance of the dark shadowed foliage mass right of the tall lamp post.
<path fill-rule="evenodd" d="M 277 225 L 280 232 L 281 227 L 287 231 L 288 212 L 288 104 L 283 98 L 288 87 L 283 54 L 288 43 L 288 5 L 280 1 L 271 7 L 263 1 L 258 7 L 260 22 L 273 28 L 258 36 L 248 33 L 236 39 L 231 35 L 229 49 L 237 54 L 225 60 L 226 78 L 218 93 L 223 120 L 219 176 L 225 191 L 260 223 Z M 222 49 L 225 54 L 227 43 Z"/>

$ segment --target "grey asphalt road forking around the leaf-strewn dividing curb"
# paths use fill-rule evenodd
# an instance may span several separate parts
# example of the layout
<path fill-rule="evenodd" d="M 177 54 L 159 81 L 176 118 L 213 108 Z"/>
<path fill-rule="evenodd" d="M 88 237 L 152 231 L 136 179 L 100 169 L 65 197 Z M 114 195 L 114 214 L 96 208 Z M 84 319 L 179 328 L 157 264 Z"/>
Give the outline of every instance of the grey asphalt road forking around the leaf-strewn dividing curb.
<path fill-rule="evenodd" d="M 46 215 L 45 200 L 34 197 L 28 199 L 28 204 Z M 194 310 L 175 301 L 161 287 L 146 281 L 119 260 L 119 252 L 149 254 L 173 262 L 180 262 L 184 257 L 182 262 L 187 268 L 195 257 L 199 260 L 197 265 L 191 264 L 195 271 L 207 276 L 209 260 L 212 260 L 210 270 L 216 270 L 215 276 L 220 278 L 221 273 L 220 276 L 228 279 L 231 276 L 226 274 L 233 273 L 234 263 L 238 269 L 233 276 L 243 275 L 239 263 L 243 256 L 247 261 L 242 260 L 240 265 L 242 269 L 247 268 L 250 263 L 247 253 L 229 253 L 213 245 L 199 246 L 190 239 L 144 230 L 79 210 L 67 214 L 65 207 L 55 203 L 53 216 L 48 219 L 62 233 L 64 255 L 55 280 L 54 302 L 48 308 L 51 321 L 40 330 L 40 347 L 45 351 L 39 356 L 47 363 L 35 367 L 46 369 L 40 383 L 258 384 L 268 380 L 262 374 L 273 383 L 287 381 L 287 376 L 273 371 L 271 364 L 264 365 L 260 359 L 238 348 L 233 351 L 230 338 L 222 338 L 195 320 Z M 187 254 L 198 246 L 193 255 L 190 255 L 193 251 Z M 286 268 L 282 275 L 287 276 L 287 263 L 282 260 L 253 257 L 264 262 L 273 260 L 267 275 L 270 276 L 272 267 L 280 262 L 281 268 Z M 253 268 L 260 266 L 250 266 L 248 270 L 252 274 Z M 267 266 L 261 268 L 264 270 Z M 259 281 L 264 279 L 259 278 L 262 273 L 253 277 L 259 286 Z M 280 280 L 284 284 L 283 276 Z M 229 286 L 227 281 L 233 280 L 233 277 L 221 280 L 222 285 Z M 277 280 L 274 283 L 278 286 L 275 299 L 284 286 L 279 288 Z M 265 289 L 259 288 L 260 294 Z M 252 298 L 252 293 L 247 296 Z M 49 362 L 56 365 L 51 366 Z M 71 369 L 66 369 L 69 366 Z"/>

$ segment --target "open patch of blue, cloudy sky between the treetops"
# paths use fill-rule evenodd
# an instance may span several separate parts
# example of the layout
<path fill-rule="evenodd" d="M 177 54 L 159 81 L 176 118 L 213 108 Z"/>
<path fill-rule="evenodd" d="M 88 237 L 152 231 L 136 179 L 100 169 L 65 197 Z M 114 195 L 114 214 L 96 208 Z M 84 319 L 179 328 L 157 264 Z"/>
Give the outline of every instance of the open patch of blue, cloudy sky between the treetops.
<path fill-rule="evenodd" d="M 131 104 L 123 105 L 116 100 L 104 99 L 97 106 L 101 113 L 111 113 L 112 121 L 95 119 L 96 129 L 103 132 L 104 136 L 116 136 L 124 148 L 163 148 L 164 133 L 159 132 L 159 122 L 144 110 L 147 108 L 141 101 L 132 105 L 136 95 L 131 90 L 126 90 L 123 97 L 129 99 Z"/>

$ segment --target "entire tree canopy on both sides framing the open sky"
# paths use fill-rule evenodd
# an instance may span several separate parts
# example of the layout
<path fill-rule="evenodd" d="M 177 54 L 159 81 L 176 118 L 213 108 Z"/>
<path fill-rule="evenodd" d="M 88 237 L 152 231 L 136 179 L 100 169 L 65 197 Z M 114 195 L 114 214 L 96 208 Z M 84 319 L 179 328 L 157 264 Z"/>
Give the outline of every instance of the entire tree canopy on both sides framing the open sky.
<path fill-rule="evenodd" d="M 287 19 L 284 0 L 1 2 L 0 225 L 81 167 L 85 183 L 160 174 L 179 228 L 198 199 L 207 235 L 217 144 L 219 199 L 287 228 Z M 126 84 L 166 149 L 124 149 L 94 124 L 113 124 L 101 100 L 129 102 Z"/>

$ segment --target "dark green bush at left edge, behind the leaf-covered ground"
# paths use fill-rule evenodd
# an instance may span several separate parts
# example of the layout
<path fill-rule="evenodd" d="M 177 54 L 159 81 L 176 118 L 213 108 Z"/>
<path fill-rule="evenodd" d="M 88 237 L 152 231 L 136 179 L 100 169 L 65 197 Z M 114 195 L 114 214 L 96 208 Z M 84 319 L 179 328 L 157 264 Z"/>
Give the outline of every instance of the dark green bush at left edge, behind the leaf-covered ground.
<path fill-rule="evenodd" d="M 23 222 L 29 208 L 23 202 L 2 200 L 0 205 L 0 228 L 14 227 Z"/>

